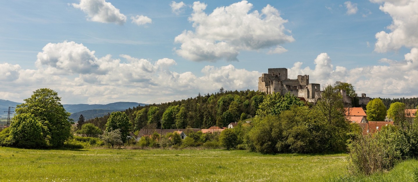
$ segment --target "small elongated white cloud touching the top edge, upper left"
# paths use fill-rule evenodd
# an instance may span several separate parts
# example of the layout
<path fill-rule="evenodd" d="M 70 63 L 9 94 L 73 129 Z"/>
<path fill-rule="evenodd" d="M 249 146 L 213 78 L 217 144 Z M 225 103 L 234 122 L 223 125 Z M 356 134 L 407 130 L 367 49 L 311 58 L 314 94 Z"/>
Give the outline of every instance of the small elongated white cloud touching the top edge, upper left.
<path fill-rule="evenodd" d="M 126 22 L 126 16 L 120 13 L 112 3 L 104 0 L 80 0 L 79 4 L 72 3 L 71 5 L 86 13 L 89 21 L 119 25 Z"/>

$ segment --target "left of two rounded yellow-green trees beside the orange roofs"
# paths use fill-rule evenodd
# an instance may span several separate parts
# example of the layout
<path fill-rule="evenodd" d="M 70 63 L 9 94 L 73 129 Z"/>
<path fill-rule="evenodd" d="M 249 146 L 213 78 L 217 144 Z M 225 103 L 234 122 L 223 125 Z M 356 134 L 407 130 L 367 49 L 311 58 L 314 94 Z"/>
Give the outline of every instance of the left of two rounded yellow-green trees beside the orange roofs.
<path fill-rule="evenodd" d="M 386 107 L 382 100 L 375 98 L 366 105 L 368 121 L 384 121 L 386 117 Z"/>

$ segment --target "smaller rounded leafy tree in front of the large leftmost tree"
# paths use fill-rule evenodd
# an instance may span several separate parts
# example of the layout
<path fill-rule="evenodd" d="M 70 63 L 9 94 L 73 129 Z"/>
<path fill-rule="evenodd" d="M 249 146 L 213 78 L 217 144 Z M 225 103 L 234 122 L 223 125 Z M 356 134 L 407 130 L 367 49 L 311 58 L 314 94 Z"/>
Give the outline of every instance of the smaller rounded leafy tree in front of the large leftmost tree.
<path fill-rule="evenodd" d="M 11 140 L 16 147 L 46 147 L 47 141 L 43 138 L 42 127 L 41 122 L 30 113 L 16 115 L 10 127 Z"/>

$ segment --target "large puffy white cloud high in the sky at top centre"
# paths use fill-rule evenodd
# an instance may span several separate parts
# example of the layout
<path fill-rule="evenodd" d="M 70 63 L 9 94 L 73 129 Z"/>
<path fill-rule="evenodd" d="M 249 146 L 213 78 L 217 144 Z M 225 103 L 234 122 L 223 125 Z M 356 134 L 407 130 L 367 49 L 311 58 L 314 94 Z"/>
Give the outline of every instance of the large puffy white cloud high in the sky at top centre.
<path fill-rule="evenodd" d="M 237 61 L 241 50 L 270 49 L 268 53 L 281 53 L 286 51 L 281 44 L 294 41 L 283 25 L 288 21 L 270 5 L 261 12 L 250 12 L 253 5 L 244 0 L 217 7 L 209 15 L 204 12 L 206 6 L 193 3 L 189 21 L 195 30 L 185 30 L 175 38 L 181 44 L 176 53 L 186 59 Z"/>

